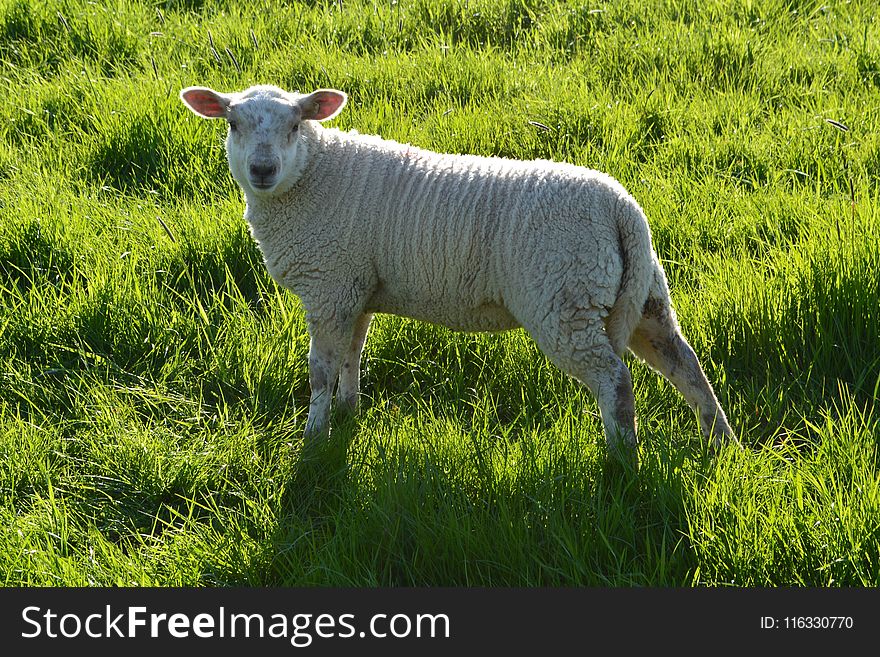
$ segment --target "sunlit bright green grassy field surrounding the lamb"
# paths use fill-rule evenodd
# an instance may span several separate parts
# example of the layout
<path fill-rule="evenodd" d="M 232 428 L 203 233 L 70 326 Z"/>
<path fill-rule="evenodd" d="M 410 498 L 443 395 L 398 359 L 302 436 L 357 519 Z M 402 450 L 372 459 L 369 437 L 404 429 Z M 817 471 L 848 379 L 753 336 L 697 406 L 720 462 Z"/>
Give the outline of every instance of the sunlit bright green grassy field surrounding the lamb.
<path fill-rule="evenodd" d="M 798 0 L 0 0 L 0 584 L 880 585 L 880 19 Z M 602 169 L 744 450 L 631 360 L 641 469 L 522 331 L 308 340 L 189 85 Z"/>

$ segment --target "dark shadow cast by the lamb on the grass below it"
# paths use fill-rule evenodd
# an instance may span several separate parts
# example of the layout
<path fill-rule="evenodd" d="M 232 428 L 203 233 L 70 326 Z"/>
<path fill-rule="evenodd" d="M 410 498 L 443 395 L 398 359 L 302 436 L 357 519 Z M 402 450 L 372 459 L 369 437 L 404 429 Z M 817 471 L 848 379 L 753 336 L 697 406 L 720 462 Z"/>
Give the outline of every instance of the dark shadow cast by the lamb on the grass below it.
<path fill-rule="evenodd" d="M 430 449 L 398 446 L 368 482 L 346 459 L 357 433 L 337 429 L 296 459 L 262 555 L 265 584 L 676 586 L 693 572 L 689 447 L 652 450 L 638 472 L 604 451 L 561 454 L 518 485 L 481 486 Z"/>

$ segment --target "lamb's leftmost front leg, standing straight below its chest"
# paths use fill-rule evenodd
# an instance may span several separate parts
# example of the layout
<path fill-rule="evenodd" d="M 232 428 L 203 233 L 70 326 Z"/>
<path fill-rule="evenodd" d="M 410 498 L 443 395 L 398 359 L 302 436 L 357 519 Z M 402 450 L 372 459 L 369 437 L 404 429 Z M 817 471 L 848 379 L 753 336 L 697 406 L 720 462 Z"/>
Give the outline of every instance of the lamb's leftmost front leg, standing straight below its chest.
<path fill-rule="evenodd" d="M 327 433 L 330 423 L 330 401 L 342 360 L 351 345 L 354 326 L 309 322 L 309 417 L 305 437 L 315 438 Z"/>

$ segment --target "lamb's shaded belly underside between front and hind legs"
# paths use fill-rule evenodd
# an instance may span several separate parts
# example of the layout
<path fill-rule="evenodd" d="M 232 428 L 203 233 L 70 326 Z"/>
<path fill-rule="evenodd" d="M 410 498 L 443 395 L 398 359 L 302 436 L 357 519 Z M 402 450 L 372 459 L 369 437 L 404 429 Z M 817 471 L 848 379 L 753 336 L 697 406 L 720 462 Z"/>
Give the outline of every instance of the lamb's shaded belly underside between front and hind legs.
<path fill-rule="evenodd" d="M 494 303 L 460 304 L 456 307 L 425 301 L 405 301 L 378 293 L 370 300 L 367 311 L 431 322 L 454 331 L 507 331 L 519 326 L 519 322 L 506 308 Z"/>

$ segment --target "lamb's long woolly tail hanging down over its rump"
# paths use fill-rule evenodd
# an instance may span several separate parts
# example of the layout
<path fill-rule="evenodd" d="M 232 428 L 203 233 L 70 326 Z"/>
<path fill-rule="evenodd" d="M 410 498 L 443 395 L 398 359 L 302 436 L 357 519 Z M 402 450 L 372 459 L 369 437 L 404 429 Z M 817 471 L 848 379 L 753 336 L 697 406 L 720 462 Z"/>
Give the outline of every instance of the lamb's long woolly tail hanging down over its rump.
<path fill-rule="evenodd" d="M 617 238 L 623 257 L 623 276 L 617 301 L 605 320 L 605 331 L 615 352 L 622 354 L 641 321 L 654 280 L 656 263 L 651 230 L 645 213 L 631 197 L 617 203 Z"/>

